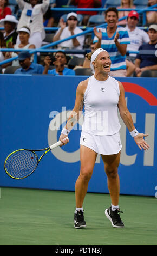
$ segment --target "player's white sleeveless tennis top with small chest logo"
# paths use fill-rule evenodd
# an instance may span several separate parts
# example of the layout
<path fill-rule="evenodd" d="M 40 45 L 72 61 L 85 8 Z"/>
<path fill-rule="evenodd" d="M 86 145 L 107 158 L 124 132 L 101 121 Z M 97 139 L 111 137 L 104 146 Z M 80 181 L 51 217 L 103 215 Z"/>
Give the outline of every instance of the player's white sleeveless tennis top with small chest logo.
<path fill-rule="evenodd" d="M 94 135 L 113 135 L 120 130 L 117 115 L 119 102 L 119 83 L 113 77 L 99 81 L 89 77 L 84 92 L 84 121 L 82 131 Z"/>

